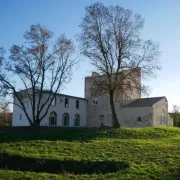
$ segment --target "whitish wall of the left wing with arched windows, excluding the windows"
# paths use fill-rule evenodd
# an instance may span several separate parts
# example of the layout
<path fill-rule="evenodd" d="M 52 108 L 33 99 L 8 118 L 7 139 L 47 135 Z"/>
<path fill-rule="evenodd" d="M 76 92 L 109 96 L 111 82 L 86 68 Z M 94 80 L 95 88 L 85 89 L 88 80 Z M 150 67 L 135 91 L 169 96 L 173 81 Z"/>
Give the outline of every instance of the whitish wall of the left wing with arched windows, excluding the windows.
<path fill-rule="evenodd" d="M 65 99 L 68 99 L 68 105 L 65 106 Z M 45 100 L 45 97 L 44 97 Z M 79 108 L 76 108 L 76 101 L 79 101 Z M 26 109 L 31 116 L 30 102 L 26 101 Z M 50 124 L 50 115 L 56 114 L 56 122 Z M 43 112 L 44 113 L 44 112 Z M 42 114 L 43 114 L 42 113 Z M 64 124 L 64 115 L 67 114 L 67 124 Z M 79 115 L 79 124 L 75 124 L 75 115 Z M 31 116 L 32 117 L 32 116 Z M 18 106 L 13 106 L 13 126 L 29 126 L 24 112 Z M 45 118 L 41 121 L 41 126 L 87 126 L 87 100 L 84 98 L 68 95 L 57 95 L 55 104 L 51 105 Z"/>

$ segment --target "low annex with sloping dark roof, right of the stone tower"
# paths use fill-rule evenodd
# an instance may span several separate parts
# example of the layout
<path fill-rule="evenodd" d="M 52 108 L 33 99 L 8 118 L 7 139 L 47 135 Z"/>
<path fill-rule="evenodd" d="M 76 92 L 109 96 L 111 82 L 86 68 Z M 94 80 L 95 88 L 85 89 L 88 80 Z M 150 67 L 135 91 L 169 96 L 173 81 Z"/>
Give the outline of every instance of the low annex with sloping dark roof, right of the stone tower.
<path fill-rule="evenodd" d="M 126 104 L 118 114 L 124 127 L 170 125 L 166 97 L 135 99 Z"/>

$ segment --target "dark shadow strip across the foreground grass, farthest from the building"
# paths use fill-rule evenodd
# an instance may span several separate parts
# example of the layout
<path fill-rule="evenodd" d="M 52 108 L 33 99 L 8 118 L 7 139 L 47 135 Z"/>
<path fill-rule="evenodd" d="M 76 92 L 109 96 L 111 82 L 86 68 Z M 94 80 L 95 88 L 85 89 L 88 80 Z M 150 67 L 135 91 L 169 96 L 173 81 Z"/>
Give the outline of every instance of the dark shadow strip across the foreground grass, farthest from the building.
<path fill-rule="evenodd" d="M 126 162 L 35 159 L 0 154 L 0 169 L 55 174 L 107 174 L 129 169 Z"/>

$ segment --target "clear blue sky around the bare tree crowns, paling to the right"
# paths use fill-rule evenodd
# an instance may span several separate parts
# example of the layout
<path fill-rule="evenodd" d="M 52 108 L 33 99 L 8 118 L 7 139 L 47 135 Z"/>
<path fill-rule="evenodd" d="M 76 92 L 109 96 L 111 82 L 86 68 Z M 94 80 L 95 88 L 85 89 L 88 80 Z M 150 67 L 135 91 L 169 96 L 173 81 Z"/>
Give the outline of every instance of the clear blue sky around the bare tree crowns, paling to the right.
<path fill-rule="evenodd" d="M 40 23 L 58 36 L 65 33 L 74 39 L 85 6 L 93 0 L 1 0 L 0 46 L 8 50 L 23 43 L 23 33 L 31 24 Z M 152 89 L 150 96 L 166 96 L 169 110 L 180 105 L 180 1 L 179 0 L 102 0 L 105 5 L 120 5 L 145 18 L 144 39 L 160 43 L 162 70 L 156 79 L 144 82 Z M 62 93 L 84 96 L 84 77 L 91 74 L 87 61 L 79 64 L 71 83 Z"/>

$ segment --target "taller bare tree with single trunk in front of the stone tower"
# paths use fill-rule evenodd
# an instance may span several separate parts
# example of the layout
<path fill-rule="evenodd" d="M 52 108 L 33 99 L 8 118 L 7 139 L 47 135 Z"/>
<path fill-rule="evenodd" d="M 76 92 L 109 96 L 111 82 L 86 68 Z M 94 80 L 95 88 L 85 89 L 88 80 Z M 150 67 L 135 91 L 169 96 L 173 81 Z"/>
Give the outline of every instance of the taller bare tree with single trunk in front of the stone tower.
<path fill-rule="evenodd" d="M 79 36 L 82 54 L 90 60 L 96 71 L 105 78 L 93 78 L 95 92 L 108 93 L 113 116 L 113 126 L 119 127 L 114 93 L 127 88 L 145 90 L 136 82 L 135 76 L 155 75 L 159 70 L 159 45 L 151 40 L 140 38 L 144 19 L 129 9 L 117 6 L 106 7 L 95 3 L 86 7 L 85 17 Z M 124 71 L 127 70 L 127 71 Z M 126 72 L 126 73 L 123 73 Z M 140 74 L 139 74 L 140 75 Z M 147 76 L 146 76 L 147 77 Z"/>

